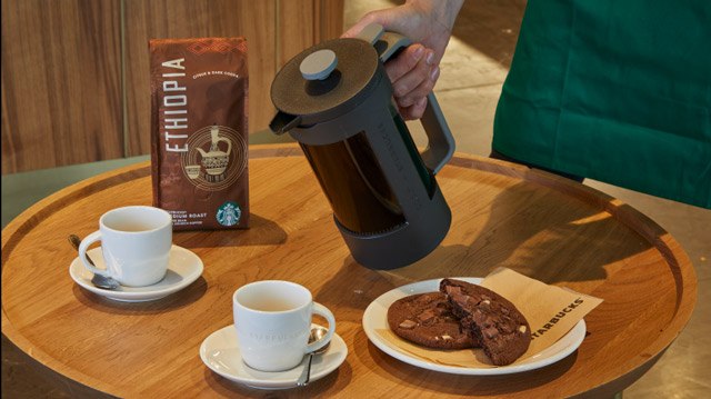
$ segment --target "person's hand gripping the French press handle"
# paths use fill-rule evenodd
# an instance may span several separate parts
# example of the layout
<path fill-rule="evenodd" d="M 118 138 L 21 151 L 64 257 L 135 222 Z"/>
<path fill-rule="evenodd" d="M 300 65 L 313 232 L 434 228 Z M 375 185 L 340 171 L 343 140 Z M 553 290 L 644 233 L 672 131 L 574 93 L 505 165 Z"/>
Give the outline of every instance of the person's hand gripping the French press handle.
<path fill-rule="evenodd" d="M 419 119 L 424 112 L 427 94 L 439 78 L 439 62 L 462 3 L 463 0 L 408 0 L 399 7 L 367 13 L 342 34 L 352 38 L 365 26 L 379 23 L 414 43 L 385 62 L 393 97 L 405 120 Z"/>

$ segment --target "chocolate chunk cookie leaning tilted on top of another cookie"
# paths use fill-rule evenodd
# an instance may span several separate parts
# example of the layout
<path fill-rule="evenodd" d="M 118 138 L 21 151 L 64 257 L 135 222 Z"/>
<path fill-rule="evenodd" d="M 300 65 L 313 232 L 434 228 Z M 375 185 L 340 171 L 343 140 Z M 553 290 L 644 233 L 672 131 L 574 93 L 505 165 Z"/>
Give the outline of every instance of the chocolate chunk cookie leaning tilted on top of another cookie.
<path fill-rule="evenodd" d="M 475 337 L 494 365 L 510 365 L 529 348 L 531 327 L 505 298 L 454 279 L 443 279 L 440 292 L 447 295 L 463 329 Z"/>

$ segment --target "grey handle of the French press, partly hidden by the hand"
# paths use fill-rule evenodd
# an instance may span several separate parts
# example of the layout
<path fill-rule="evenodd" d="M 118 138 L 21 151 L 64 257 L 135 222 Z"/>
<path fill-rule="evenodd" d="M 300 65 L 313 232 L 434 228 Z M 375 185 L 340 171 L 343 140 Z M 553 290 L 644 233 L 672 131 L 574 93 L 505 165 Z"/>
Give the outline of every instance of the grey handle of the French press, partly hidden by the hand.
<path fill-rule="evenodd" d="M 394 32 L 385 32 L 378 23 L 367 26 L 357 37 L 370 42 L 378 50 L 382 62 L 400 49 L 412 44 L 410 39 Z M 421 154 L 422 161 L 437 174 L 454 154 L 455 144 L 433 92 L 427 94 L 427 107 L 420 122 L 428 138 L 428 146 Z"/>

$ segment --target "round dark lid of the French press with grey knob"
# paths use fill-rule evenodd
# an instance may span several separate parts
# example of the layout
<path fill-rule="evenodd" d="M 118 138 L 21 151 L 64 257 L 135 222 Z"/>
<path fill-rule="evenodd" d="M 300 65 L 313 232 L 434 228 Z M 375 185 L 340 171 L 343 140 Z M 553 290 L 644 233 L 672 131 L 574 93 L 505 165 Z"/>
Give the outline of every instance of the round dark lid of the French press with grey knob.
<path fill-rule="evenodd" d="M 278 134 L 338 118 L 368 99 L 382 79 L 375 48 L 361 39 L 334 39 L 292 58 L 277 73 L 271 100 Z"/>

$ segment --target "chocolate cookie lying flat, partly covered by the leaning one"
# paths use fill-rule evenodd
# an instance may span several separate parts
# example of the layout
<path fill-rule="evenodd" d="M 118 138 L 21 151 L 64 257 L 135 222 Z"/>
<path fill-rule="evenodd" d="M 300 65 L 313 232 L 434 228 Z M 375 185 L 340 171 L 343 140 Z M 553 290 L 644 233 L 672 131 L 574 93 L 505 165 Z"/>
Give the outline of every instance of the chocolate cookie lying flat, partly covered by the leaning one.
<path fill-rule="evenodd" d="M 398 336 L 425 347 L 463 349 L 474 346 L 441 292 L 398 299 L 388 309 L 388 323 Z"/>

